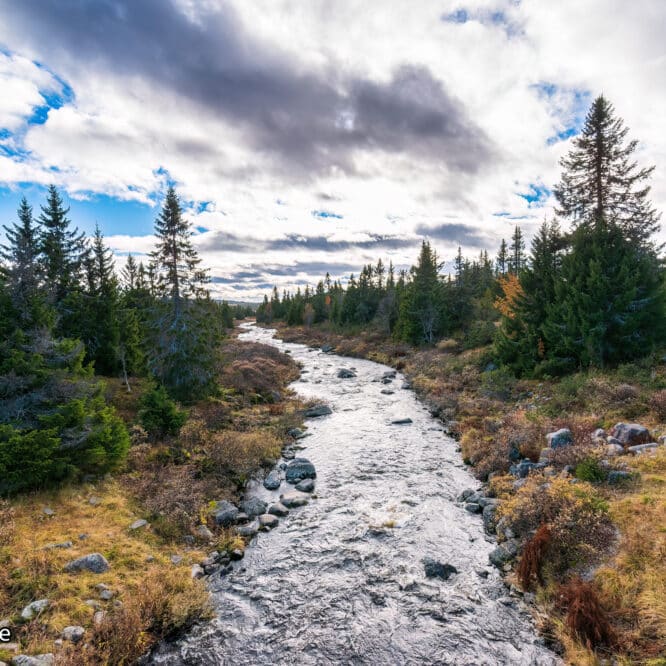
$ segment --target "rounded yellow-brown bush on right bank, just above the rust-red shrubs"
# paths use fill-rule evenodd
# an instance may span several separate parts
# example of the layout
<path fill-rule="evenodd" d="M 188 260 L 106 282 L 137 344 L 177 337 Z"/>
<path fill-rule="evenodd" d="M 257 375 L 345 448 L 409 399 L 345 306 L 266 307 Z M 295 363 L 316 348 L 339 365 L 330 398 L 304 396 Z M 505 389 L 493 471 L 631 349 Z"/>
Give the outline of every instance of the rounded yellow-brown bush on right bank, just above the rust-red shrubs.
<path fill-rule="evenodd" d="M 550 530 L 544 573 L 561 579 L 598 561 L 614 539 L 608 506 L 585 482 L 530 476 L 516 494 L 503 502 L 498 517 L 506 518 L 518 535 L 529 536 L 542 526 Z"/>

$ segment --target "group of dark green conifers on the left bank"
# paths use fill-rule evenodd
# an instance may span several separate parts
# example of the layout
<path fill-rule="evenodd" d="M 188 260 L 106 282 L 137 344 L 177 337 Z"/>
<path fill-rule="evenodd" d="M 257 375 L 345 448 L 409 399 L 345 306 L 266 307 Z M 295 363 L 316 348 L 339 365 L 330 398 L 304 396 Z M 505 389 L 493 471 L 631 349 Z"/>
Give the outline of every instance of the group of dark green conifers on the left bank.
<path fill-rule="evenodd" d="M 120 275 L 99 227 L 86 239 L 55 186 L 23 198 L 0 247 L 0 495 L 113 469 L 129 438 L 96 375 L 146 376 L 188 403 L 215 390 L 234 311 L 210 299 L 169 188 L 146 263 Z M 243 315 L 245 312 L 242 313 Z"/>

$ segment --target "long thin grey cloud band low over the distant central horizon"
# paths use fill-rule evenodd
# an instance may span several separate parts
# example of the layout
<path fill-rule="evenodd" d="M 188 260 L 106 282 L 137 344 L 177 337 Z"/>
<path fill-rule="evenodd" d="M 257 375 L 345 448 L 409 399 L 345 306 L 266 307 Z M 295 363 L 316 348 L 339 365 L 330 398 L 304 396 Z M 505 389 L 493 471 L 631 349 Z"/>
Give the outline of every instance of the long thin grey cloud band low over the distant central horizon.
<path fill-rule="evenodd" d="M 323 251 L 342 252 L 351 249 L 397 250 L 414 247 L 415 238 L 402 238 L 382 234 L 369 234 L 367 240 L 329 240 L 326 236 L 299 236 L 287 234 L 282 238 L 260 239 L 236 236 L 226 231 L 207 234 L 198 244 L 200 250 L 254 253 L 268 251 Z"/>

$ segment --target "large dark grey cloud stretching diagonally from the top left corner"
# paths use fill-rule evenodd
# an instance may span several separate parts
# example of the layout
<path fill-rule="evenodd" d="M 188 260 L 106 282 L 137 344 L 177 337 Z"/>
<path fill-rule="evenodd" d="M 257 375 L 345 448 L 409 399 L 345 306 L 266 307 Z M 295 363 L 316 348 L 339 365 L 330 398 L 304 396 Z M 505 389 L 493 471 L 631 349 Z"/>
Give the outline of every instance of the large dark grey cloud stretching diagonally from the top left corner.
<path fill-rule="evenodd" d="M 46 62 L 141 77 L 240 128 L 250 145 L 293 175 L 338 166 L 379 149 L 476 172 L 490 140 L 425 67 L 378 83 L 344 72 L 303 71 L 258 42 L 232 7 L 186 16 L 169 0 L 0 0 L 17 38 Z M 129 80 L 129 79 L 128 79 Z M 183 145 L 197 156 L 202 145 Z"/>

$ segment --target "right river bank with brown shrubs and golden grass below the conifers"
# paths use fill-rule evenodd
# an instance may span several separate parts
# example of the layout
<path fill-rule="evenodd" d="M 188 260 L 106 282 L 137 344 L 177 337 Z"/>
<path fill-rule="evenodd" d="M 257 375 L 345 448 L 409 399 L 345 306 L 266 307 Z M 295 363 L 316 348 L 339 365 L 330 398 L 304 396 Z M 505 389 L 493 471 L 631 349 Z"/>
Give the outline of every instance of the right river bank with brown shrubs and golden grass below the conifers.
<path fill-rule="evenodd" d="M 498 519 L 504 519 L 501 530 L 509 526 L 509 537 L 500 533 L 500 540 L 512 538 L 512 526 L 524 530 L 514 535 L 520 540 L 517 552 L 533 539 L 543 518 L 533 515 L 537 524 L 520 525 L 520 514 L 528 513 L 530 505 L 546 504 L 556 514 L 569 511 L 578 516 L 573 529 L 562 529 L 558 539 L 543 548 L 538 571 L 523 581 L 526 585 L 521 585 L 518 572 L 508 562 L 505 571 L 509 584 L 535 594 L 540 629 L 549 641 L 563 646 L 569 663 L 591 665 L 609 659 L 622 664 L 663 663 L 666 447 L 649 449 L 644 455 L 613 457 L 605 440 L 600 444 L 591 437 L 598 428 L 605 428 L 610 436 L 617 423 L 639 421 L 650 440 L 663 442 L 659 439 L 666 433 L 663 363 L 580 373 L 560 381 L 519 381 L 492 365 L 489 349 L 461 351 L 455 341 L 419 350 L 394 344 L 372 331 L 344 336 L 316 327 L 278 325 L 278 330 L 284 340 L 335 349 L 402 370 L 431 413 L 456 436 L 477 477 L 502 500 L 505 508 Z M 558 452 L 550 465 L 543 466 L 547 467 L 545 479 L 544 471 L 529 474 L 530 465 L 537 464 L 549 446 L 546 435 L 560 428 L 570 429 L 576 445 Z M 516 470 L 520 461 L 529 464 Z M 533 479 L 520 478 L 522 472 L 540 478 L 541 485 L 545 482 L 551 490 L 544 493 Z M 553 474 L 568 477 L 567 485 L 559 478 L 553 483 Z M 621 483 L 609 484 L 609 479 Z M 571 487 L 576 489 L 575 496 L 568 491 Z M 555 522 L 555 530 L 560 529 Z M 617 531 L 611 534 L 609 525 Z M 589 538 L 590 530 L 596 541 Z M 584 555 L 587 565 L 572 566 L 572 554 Z M 521 561 L 510 559 L 514 564 Z M 582 587 L 576 582 L 578 573 L 585 578 Z M 610 630 L 605 643 L 595 649 L 586 644 L 561 601 L 567 594 L 593 599 Z"/>

